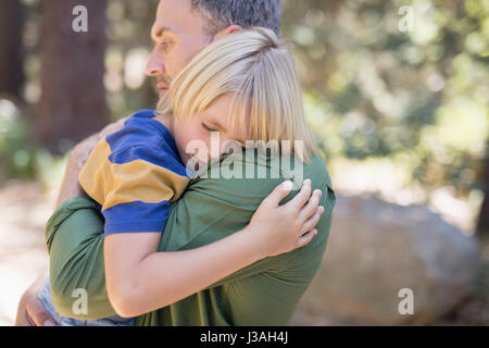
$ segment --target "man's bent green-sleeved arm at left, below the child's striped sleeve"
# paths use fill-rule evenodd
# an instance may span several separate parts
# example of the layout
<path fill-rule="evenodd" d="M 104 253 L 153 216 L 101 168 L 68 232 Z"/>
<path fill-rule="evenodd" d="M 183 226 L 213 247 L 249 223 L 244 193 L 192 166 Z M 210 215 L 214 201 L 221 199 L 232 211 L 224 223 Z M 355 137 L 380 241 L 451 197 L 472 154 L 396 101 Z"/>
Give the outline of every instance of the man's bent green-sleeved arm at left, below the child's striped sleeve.
<path fill-rule="evenodd" d="M 86 197 L 63 202 L 48 221 L 51 296 L 63 316 L 90 320 L 116 314 L 105 289 L 103 225 L 97 203 Z M 86 315 L 73 312 L 78 289 L 87 295 Z"/>

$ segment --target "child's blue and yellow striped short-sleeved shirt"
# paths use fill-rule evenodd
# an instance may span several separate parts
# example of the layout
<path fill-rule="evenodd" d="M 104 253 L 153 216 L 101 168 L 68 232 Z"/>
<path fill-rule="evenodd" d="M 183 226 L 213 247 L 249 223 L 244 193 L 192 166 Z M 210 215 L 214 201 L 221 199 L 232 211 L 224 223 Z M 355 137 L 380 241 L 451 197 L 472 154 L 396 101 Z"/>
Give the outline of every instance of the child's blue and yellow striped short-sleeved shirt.
<path fill-rule="evenodd" d="M 101 206 L 105 236 L 162 232 L 170 203 L 189 182 L 172 134 L 154 115 L 142 110 L 127 119 L 123 129 L 97 145 L 78 176 Z"/>

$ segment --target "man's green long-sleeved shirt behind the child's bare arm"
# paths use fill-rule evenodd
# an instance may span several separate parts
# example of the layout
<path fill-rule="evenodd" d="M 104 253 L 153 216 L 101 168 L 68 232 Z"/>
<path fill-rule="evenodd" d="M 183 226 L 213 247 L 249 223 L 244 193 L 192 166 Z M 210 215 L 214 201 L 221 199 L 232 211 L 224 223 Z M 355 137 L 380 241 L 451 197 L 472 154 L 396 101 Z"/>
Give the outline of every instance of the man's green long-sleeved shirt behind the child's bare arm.
<path fill-rule="evenodd" d="M 203 169 L 201 174 L 208 177 L 192 178 L 172 204 L 159 251 L 195 249 L 242 229 L 261 201 L 291 173 L 296 179 L 311 178 L 313 189 L 323 191 L 325 212 L 316 226 L 318 234 L 305 247 L 265 258 L 178 302 L 138 316 L 137 325 L 289 324 L 322 263 L 336 197 L 322 158 L 301 162 L 302 173 L 294 171 L 293 163 L 289 171 L 283 166 L 277 170 L 276 160 L 231 154 Z M 217 177 L 215 171 L 223 169 L 227 171 Z M 105 288 L 103 223 L 96 202 L 77 197 L 65 201 L 47 224 L 51 293 L 64 316 L 92 320 L 115 314 Z M 87 314 L 73 314 L 76 288 L 87 290 Z"/>

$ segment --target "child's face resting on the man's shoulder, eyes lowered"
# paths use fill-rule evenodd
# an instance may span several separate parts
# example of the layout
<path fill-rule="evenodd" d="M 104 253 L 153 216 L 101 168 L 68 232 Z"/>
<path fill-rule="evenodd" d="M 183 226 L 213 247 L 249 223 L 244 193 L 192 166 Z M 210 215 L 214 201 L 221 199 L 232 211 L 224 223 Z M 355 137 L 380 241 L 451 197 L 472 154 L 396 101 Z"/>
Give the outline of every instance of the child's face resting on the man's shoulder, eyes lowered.
<path fill-rule="evenodd" d="M 218 158 L 223 152 L 223 144 L 226 141 L 237 140 L 244 144 L 246 129 L 239 125 L 235 129 L 228 129 L 233 98 L 233 95 L 218 97 L 204 111 L 174 123 L 175 142 L 184 164 L 187 165 L 195 156 L 199 159 L 199 166 L 211 159 Z M 218 132 L 218 141 L 214 134 L 214 140 L 211 144 L 211 134 L 215 132 Z M 196 144 L 200 144 L 205 149 L 196 150 Z"/>

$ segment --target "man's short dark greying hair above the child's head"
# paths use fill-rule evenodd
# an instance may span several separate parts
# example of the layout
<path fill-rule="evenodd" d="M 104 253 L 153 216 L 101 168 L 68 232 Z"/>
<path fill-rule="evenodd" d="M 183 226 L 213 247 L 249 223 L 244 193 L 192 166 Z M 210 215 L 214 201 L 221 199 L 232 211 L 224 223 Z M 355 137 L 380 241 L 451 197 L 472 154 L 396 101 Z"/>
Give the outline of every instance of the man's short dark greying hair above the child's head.
<path fill-rule="evenodd" d="M 191 0 L 192 10 L 205 20 L 209 35 L 236 24 L 243 28 L 263 26 L 280 36 L 280 0 Z"/>

